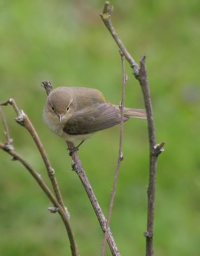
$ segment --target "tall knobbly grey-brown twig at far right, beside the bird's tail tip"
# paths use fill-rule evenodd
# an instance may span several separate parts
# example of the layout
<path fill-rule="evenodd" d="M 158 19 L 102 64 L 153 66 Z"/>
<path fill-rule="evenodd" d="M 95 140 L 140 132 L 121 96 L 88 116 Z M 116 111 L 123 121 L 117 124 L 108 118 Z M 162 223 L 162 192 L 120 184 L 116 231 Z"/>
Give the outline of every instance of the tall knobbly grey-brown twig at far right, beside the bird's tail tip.
<path fill-rule="evenodd" d="M 156 183 L 156 170 L 157 170 L 157 157 L 163 151 L 164 142 L 156 144 L 155 142 L 155 128 L 152 112 L 152 104 L 150 99 L 150 89 L 148 86 L 148 79 L 145 68 L 145 58 L 140 61 L 140 67 L 132 59 L 131 55 L 125 49 L 120 38 L 118 38 L 113 25 L 111 24 L 111 12 L 112 8 L 109 2 L 104 3 L 103 13 L 101 13 L 101 19 L 103 20 L 106 28 L 110 31 L 111 36 L 117 43 L 120 51 L 123 52 L 126 60 L 129 62 L 133 69 L 134 76 L 138 79 L 141 85 L 143 98 L 145 101 L 145 108 L 148 122 L 148 138 L 150 143 L 150 169 L 149 169 L 149 184 L 148 184 L 148 212 L 147 212 L 147 230 L 145 231 L 146 237 L 146 256 L 154 255 L 153 250 L 153 231 L 154 231 L 154 207 L 155 207 L 155 183 Z M 141 69 L 141 70 L 140 70 Z"/>

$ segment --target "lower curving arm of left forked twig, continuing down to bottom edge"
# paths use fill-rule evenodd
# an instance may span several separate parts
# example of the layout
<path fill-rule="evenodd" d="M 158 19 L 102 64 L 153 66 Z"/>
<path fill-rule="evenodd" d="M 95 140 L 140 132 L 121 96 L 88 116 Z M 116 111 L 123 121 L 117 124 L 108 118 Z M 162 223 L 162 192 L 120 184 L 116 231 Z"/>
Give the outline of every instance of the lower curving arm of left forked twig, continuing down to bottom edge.
<path fill-rule="evenodd" d="M 41 175 L 39 175 L 31 167 L 31 165 L 29 163 L 27 163 L 27 161 L 25 161 L 25 159 L 23 157 L 21 157 L 17 153 L 15 153 L 15 151 L 13 151 L 13 150 L 6 150 L 5 147 L 4 147 L 4 144 L 1 143 L 1 142 L 0 142 L 0 148 L 2 150 L 4 150 L 5 152 L 7 152 L 8 154 L 10 154 L 10 156 L 12 156 L 13 159 L 18 160 L 22 165 L 24 165 L 24 167 L 29 171 L 29 173 L 32 175 L 32 177 L 36 180 L 36 182 L 38 183 L 39 187 L 45 192 L 46 196 L 48 196 L 48 198 L 50 199 L 52 204 L 54 204 L 57 207 L 58 212 L 59 212 L 59 214 L 60 214 L 60 216 L 62 218 L 62 221 L 64 222 L 64 225 L 66 227 L 66 230 L 68 232 L 68 237 L 69 237 L 69 242 L 70 242 L 70 247 L 71 247 L 71 255 L 78 256 L 79 253 L 78 253 L 78 249 L 76 247 L 75 237 L 73 235 L 73 231 L 71 230 L 71 225 L 69 223 L 68 216 L 66 215 L 66 211 L 64 211 L 62 205 L 59 204 L 59 202 L 57 201 L 55 196 L 52 194 L 52 192 L 50 191 L 48 186 L 46 186 L 45 182 L 41 178 Z"/>

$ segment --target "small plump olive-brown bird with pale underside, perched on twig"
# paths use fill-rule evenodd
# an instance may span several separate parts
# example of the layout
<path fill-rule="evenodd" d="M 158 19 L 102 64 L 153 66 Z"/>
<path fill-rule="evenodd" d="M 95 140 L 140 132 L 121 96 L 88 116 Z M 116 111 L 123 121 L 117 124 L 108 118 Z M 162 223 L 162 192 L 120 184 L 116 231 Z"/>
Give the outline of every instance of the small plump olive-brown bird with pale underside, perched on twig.
<path fill-rule="evenodd" d="M 124 108 L 123 120 L 146 118 L 144 109 Z M 48 94 L 43 118 L 49 129 L 68 142 L 85 141 L 97 131 L 120 124 L 119 106 L 87 87 L 57 87 Z"/>

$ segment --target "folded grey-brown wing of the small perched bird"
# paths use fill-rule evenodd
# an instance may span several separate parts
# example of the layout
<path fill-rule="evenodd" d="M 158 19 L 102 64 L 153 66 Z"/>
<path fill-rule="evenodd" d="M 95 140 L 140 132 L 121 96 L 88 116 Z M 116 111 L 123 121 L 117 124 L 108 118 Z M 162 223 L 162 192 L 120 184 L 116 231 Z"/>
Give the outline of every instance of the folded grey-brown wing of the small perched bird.
<path fill-rule="evenodd" d="M 129 117 L 124 117 L 124 122 Z M 93 106 L 93 111 L 89 108 L 82 109 L 73 114 L 66 123 L 63 131 L 71 134 L 90 134 L 110 128 L 121 122 L 120 113 L 111 104 L 105 102 Z"/>

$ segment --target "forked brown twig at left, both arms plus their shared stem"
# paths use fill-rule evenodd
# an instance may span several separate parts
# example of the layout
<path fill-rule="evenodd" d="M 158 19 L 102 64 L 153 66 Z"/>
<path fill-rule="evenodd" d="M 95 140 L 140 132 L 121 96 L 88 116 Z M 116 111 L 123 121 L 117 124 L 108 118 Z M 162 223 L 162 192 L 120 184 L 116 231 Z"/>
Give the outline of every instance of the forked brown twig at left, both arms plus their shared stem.
<path fill-rule="evenodd" d="M 50 180 L 52 182 L 52 186 L 54 188 L 56 198 L 52 198 L 52 193 L 51 193 L 50 189 L 48 189 L 48 187 L 44 184 L 43 180 L 41 180 L 40 175 L 38 175 L 38 173 L 34 172 L 34 170 L 31 168 L 31 166 L 29 166 L 29 164 L 27 164 L 27 162 L 24 159 L 22 159 L 22 157 L 18 156 L 13 150 L 11 150 L 11 149 L 8 150 L 8 148 L 6 148 L 5 145 L 3 146 L 3 148 L 2 148 L 2 145 L 1 145 L 1 148 L 3 150 L 5 150 L 6 152 L 8 152 L 8 154 L 13 156 L 14 159 L 17 159 L 18 161 L 20 161 L 20 163 L 24 164 L 25 168 L 27 168 L 27 170 L 29 170 L 29 172 L 34 177 L 34 179 L 36 179 L 39 186 L 41 186 L 41 188 L 46 193 L 48 198 L 50 198 L 50 200 L 53 202 L 53 204 L 55 203 L 54 205 L 56 207 L 58 207 L 59 214 L 61 215 L 62 221 L 64 222 L 64 225 L 65 225 L 66 230 L 68 232 L 71 254 L 73 256 L 78 256 L 79 253 L 78 253 L 78 249 L 77 249 L 77 246 L 76 246 L 76 243 L 75 243 L 75 236 L 73 234 L 73 231 L 71 229 L 71 225 L 69 223 L 69 212 L 66 209 L 66 207 L 64 206 L 62 196 L 61 196 L 61 192 L 60 192 L 59 186 L 57 184 L 57 180 L 55 178 L 55 171 L 52 168 L 52 166 L 50 164 L 50 161 L 48 160 L 45 149 L 43 148 L 43 145 L 41 144 L 41 141 L 39 140 L 38 134 L 36 133 L 33 125 L 31 124 L 31 121 L 29 120 L 27 115 L 25 115 L 24 111 L 22 111 L 18 108 L 17 104 L 15 103 L 15 100 L 9 99 L 6 102 L 0 103 L 0 106 L 6 106 L 8 104 L 13 106 L 13 109 L 17 113 L 17 118 L 15 118 L 16 122 L 18 124 L 24 126 L 27 129 L 27 131 L 29 131 L 29 133 L 31 134 L 34 142 L 36 143 L 36 146 L 38 147 L 38 150 L 41 154 L 41 157 L 43 158 L 43 161 L 45 163 L 46 170 L 48 172 L 48 177 L 50 177 Z M 5 119 L 4 119 L 4 122 L 6 124 Z M 7 126 L 7 125 L 5 125 L 5 126 Z M 8 132 L 8 130 L 7 130 L 7 132 Z M 61 209 L 62 209 L 62 211 L 61 211 Z M 64 216 L 63 216 L 63 214 L 64 214 Z"/>

